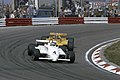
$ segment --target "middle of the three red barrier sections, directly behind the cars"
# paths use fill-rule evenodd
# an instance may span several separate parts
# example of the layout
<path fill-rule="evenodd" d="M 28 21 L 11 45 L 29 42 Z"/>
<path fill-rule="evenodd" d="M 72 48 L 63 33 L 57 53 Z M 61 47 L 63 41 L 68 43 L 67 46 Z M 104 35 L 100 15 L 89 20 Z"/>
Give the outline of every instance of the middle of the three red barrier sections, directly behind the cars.
<path fill-rule="evenodd" d="M 84 18 L 67 17 L 58 18 L 59 24 L 84 24 Z"/>

